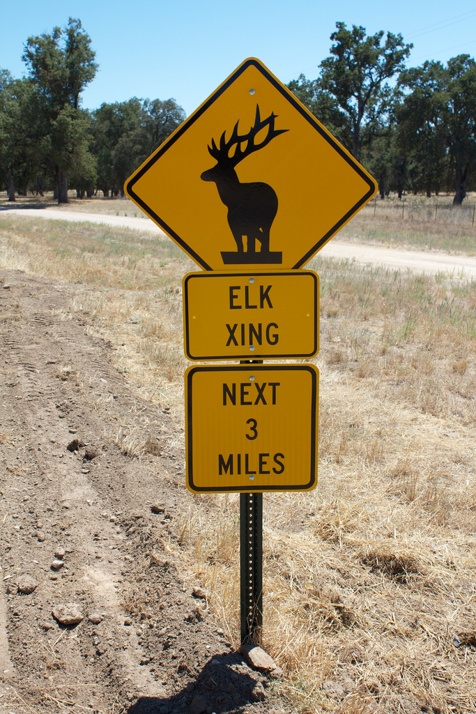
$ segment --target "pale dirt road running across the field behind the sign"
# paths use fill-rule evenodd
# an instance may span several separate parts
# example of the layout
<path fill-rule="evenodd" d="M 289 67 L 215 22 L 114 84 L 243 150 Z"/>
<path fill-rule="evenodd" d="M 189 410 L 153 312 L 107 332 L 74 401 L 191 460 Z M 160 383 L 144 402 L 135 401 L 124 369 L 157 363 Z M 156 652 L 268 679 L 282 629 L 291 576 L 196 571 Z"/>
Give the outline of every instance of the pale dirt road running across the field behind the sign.
<path fill-rule="evenodd" d="M 56 208 L 4 208 L 1 216 L 11 213 L 34 218 L 53 218 L 59 221 L 89 221 L 90 223 L 106 223 L 108 226 L 140 228 L 141 231 L 161 233 L 158 226 L 149 218 L 133 218 L 132 216 L 108 216 L 101 213 L 79 213 Z M 420 273 L 449 273 L 461 278 L 476 278 L 476 256 L 465 256 L 460 253 L 450 255 L 442 251 L 399 251 L 394 248 L 383 248 L 370 243 L 341 241 L 334 238 L 322 249 L 322 255 L 333 258 L 348 258 L 359 263 L 384 265 L 401 270 L 410 269 Z"/>

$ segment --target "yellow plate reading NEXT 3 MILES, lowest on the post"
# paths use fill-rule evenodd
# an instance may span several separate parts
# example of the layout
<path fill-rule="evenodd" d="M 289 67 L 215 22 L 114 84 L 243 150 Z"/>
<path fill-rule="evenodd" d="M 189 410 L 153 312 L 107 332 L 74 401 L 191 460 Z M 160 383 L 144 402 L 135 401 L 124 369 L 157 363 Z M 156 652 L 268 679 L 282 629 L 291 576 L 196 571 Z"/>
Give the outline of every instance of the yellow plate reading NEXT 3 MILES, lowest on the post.
<path fill-rule="evenodd" d="M 313 364 L 189 367 L 185 383 L 190 491 L 315 488 L 319 373 Z"/>

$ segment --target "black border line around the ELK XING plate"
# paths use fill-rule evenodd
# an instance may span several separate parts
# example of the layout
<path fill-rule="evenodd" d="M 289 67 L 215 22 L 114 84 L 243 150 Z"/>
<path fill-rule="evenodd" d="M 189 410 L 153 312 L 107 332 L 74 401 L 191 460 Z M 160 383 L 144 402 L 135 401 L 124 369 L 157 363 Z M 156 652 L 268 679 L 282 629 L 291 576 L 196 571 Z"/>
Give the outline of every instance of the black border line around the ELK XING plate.
<path fill-rule="evenodd" d="M 310 276 L 313 278 L 314 281 L 314 315 L 315 315 L 315 322 L 314 322 L 314 347 L 313 350 L 309 353 L 293 353 L 293 354 L 267 354 L 263 351 L 258 351 L 258 348 L 251 353 L 250 351 L 243 353 L 242 355 L 229 355 L 229 354 L 224 354 L 224 355 L 213 355 L 213 356 L 200 356 L 200 357 L 193 357 L 191 355 L 190 351 L 190 337 L 188 334 L 189 331 L 189 315 L 188 315 L 188 281 L 192 280 L 194 278 L 208 278 L 211 276 L 208 276 L 208 273 L 188 273 L 188 275 L 183 278 L 183 352 L 185 353 L 185 356 L 187 359 L 193 361 L 193 362 L 206 362 L 206 361 L 217 361 L 217 360 L 238 360 L 238 359 L 308 359 L 310 357 L 314 357 L 318 353 L 318 337 L 319 337 L 319 312 L 318 312 L 318 298 L 319 298 L 319 276 L 317 273 L 314 273 L 314 271 L 306 271 L 305 273 L 293 273 L 293 271 L 288 270 L 288 271 L 240 271 L 240 272 L 234 272 L 233 273 L 227 273 L 226 271 L 213 271 L 213 277 L 233 277 L 233 278 L 254 278 L 254 277 L 270 277 L 272 278 L 273 276 L 298 276 L 298 275 L 306 275 Z"/>

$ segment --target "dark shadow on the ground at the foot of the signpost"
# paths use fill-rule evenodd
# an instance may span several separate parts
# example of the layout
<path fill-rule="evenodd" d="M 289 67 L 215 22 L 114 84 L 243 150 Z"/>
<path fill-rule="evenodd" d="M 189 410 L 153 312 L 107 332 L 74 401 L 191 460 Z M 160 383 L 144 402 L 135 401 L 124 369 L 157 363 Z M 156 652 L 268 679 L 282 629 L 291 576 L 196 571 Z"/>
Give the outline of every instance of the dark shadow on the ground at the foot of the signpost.
<path fill-rule="evenodd" d="M 244 713 L 253 703 L 251 690 L 262 677 L 253 670 L 237 672 L 236 665 L 243 665 L 239 653 L 213 655 L 201 673 L 191 678 L 181 691 L 170 697 L 140 697 L 128 708 L 128 714 Z M 198 697 L 203 701 L 197 700 Z"/>

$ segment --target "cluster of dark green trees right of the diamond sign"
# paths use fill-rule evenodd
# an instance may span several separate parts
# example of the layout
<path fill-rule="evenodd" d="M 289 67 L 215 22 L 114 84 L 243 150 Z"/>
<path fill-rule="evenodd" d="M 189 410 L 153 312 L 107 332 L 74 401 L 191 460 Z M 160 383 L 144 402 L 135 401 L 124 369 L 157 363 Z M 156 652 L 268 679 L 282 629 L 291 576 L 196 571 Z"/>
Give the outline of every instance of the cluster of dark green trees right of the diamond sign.
<path fill-rule="evenodd" d="M 411 45 L 400 34 L 383 41 L 383 31 L 336 26 L 318 78 L 301 74 L 288 88 L 375 176 L 382 198 L 454 189 L 460 204 L 476 186 L 475 60 L 405 69 Z"/>

